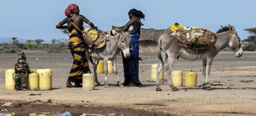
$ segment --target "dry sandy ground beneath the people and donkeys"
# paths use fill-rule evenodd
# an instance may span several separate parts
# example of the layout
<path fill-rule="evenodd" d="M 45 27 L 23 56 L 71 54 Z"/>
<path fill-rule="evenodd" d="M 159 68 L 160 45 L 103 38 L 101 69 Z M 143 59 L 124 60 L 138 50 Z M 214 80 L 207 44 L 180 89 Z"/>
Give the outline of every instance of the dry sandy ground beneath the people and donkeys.
<path fill-rule="evenodd" d="M 173 70 L 198 73 L 197 87 L 178 87 L 172 91 L 164 72 L 164 82 L 156 91 L 151 82 L 151 65 L 158 61 L 157 53 L 141 52 L 140 81 L 143 87 L 116 87 L 113 74 L 109 74 L 109 88 L 104 88 L 104 75 L 98 74 L 102 86 L 85 91 L 82 88 L 66 88 L 65 82 L 72 65 L 70 53 L 25 52 L 29 66 L 34 69 L 52 69 L 52 90 L 14 91 L 5 89 L 5 70 L 14 68 L 18 53 L 0 53 L 0 105 L 13 102 L 14 106 L 0 107 L 1 113 L 71 112 L 117 116 L 256 116 L 256 52 L 244 52 L 236 58 L 232 52 L 220 52 L 212 63 L 209 81 L 214 90 L 202 90 L 201 61 L 179 59 Z M 38 58 L 38 60 L 36 60 Z M 119 78 L 123 82 L 122 58 L 118 56 Z M 90 64 L 90 68 L 91 68 Z M 91 69 L 92 70 L 92 69 Z M 185 85 L 185 84 L 183 84 Z M 29 96 L 35 94 L 36 96 Z M 23 104 L 24 102 L 36 103 Z M 51 99 L 50 103 L 47 100 Z M 20 105 L 18 105 L 20 103 Z"/>

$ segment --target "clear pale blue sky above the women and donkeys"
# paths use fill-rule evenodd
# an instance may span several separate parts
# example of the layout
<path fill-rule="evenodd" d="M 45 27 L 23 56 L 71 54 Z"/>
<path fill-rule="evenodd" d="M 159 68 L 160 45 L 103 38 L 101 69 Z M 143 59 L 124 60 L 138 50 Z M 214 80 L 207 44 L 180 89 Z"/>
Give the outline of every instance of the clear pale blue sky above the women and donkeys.
<path fill-rule="evenodd" d="M 250 35 L 244 29 L 256 27 L 256 0 L 1 0 L 0 37 L 68 38 L 55 26 L 66 17 L 70 3 L 103 31 L 125 25 L 132 8 L 145 14 L 145 29 L 166 29 L 177 22 L 217 32 L 221 25 L 231 24 L 244 39 Z"/>

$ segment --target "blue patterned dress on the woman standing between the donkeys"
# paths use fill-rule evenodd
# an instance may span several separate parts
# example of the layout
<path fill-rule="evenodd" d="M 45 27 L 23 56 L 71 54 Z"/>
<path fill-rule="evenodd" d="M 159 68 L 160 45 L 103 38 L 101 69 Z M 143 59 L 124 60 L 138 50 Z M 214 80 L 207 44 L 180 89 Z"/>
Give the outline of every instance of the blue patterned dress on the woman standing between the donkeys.
<path fill-rule="evenodd" d="M 130 58 L 124 58 L 122 53 L 123 67 L 124 67 L 124 84 L 134 83 L 142 85 L 139 80 L 139 38 L 140 26 L 134 26 L 129 34 L 130 41 Z"/>

